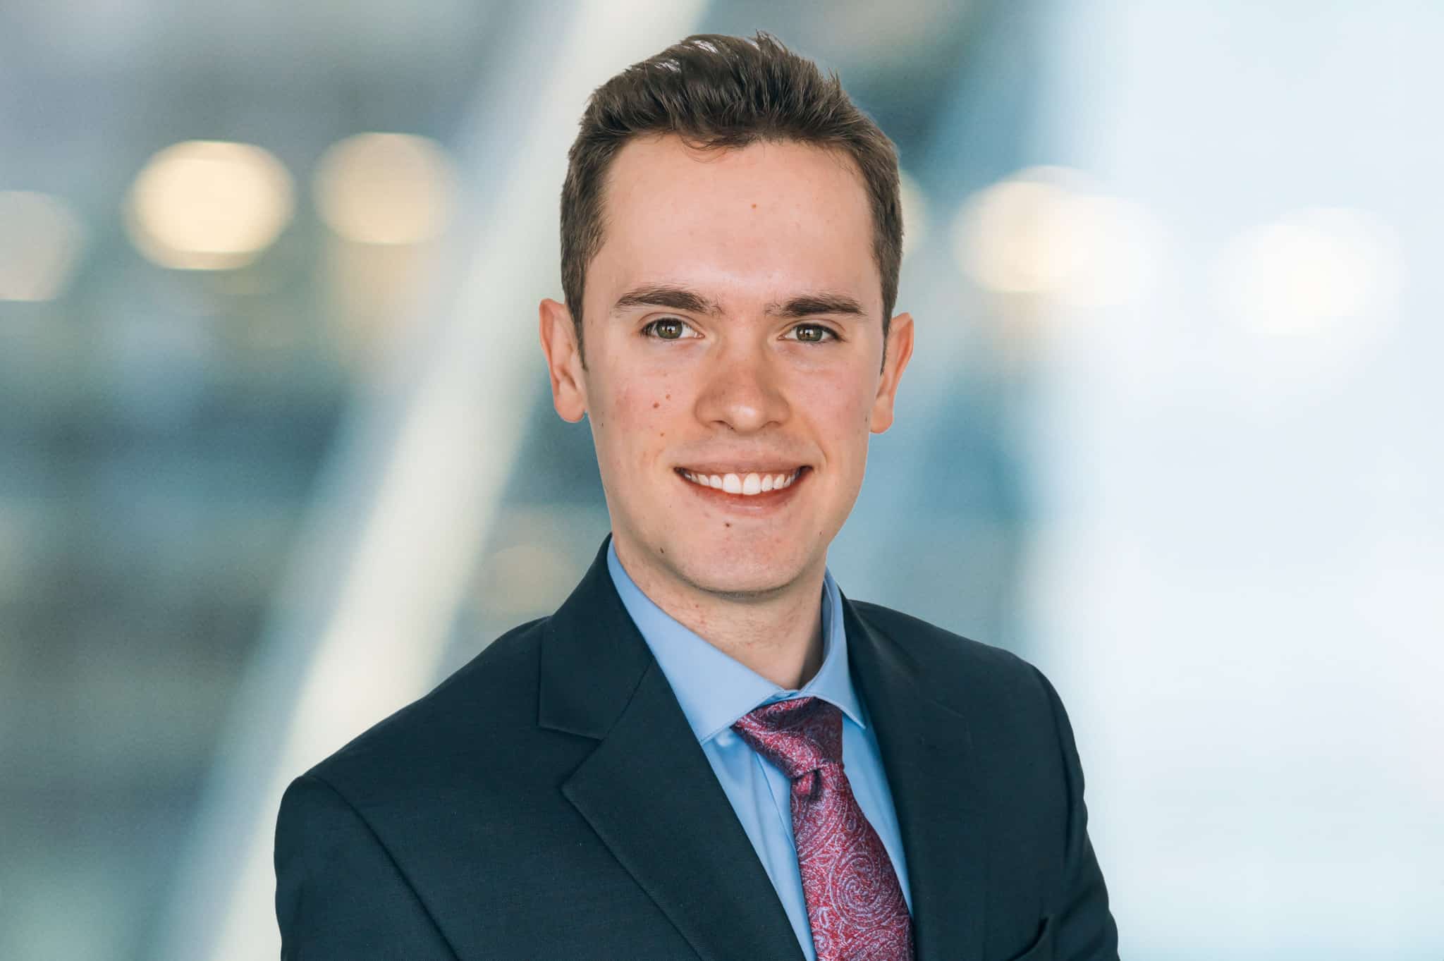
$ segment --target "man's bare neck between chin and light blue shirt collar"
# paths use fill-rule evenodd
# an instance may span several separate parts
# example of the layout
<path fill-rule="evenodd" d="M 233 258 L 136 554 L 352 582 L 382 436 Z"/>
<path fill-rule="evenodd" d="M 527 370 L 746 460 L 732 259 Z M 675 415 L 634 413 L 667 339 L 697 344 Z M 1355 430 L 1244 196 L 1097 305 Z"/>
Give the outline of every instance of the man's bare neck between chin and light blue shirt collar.
<path fill-rule="evenodd" d="M 796 690 L 822 668 L 825 566 L 757 594 L 713 593 L 654 570 L 617 543 L 632 583 L 677 623 L 778 687 Z"/>

